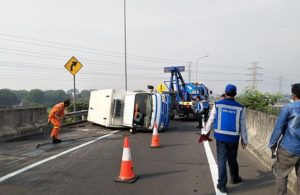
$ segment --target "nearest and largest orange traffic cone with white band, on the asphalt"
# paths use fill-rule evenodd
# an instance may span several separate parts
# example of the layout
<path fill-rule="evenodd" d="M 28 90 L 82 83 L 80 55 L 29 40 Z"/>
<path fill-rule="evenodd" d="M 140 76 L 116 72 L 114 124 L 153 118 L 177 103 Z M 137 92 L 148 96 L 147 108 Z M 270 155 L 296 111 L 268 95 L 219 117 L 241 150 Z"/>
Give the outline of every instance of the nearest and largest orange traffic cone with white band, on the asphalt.
<path fill-rule="evenodd" d="M 120 176 L 115 181 L 124 183 L 134 183 L 137 179 L 138 176 L 136 176 L 133 172 L 129 139 L 127 136 L 125 136 Z"/>

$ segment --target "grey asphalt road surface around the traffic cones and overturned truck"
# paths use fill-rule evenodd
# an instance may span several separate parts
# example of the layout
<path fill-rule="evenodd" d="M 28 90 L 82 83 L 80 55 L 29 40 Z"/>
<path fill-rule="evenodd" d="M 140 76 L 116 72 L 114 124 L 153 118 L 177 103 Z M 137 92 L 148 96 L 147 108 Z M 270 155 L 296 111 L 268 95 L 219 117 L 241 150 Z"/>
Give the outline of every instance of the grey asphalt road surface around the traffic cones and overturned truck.
<path fill-rule="evenodd" d="M 172 121 L 159 134 L 162 148 L 149 147 L 150 132 L 131 135 L 91 124 L 62 129 L 64 142 L 57 145 L 36 148 L 50 141 L 44 133 L 2 141 L 0 194 L 216 194 L 210 170 L 214 166 L 209 165 L 204 144 L 198 143 L 196 125 Z M 134 173 L 140 176 L 133 184 L 114 181 L 120 173 L 124 135 L 129 135 Z M 209 145 L 216 158 L 215 141 Z M 240 149 L 238 161 L 243 182 L 228 184 L 227 194 L 275 194 L 274 176 L 255 157 Z"/>

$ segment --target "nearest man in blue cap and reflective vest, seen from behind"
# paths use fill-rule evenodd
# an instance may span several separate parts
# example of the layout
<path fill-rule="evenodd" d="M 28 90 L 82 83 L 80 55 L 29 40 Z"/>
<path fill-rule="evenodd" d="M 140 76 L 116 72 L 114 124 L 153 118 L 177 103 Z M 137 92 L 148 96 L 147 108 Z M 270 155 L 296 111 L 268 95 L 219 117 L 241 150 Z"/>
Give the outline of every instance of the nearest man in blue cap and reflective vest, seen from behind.
<path fill-rule="evenodd" d="M 214 124 L 219 175 L 217 188 L 223 193 L 227 191 L 227 161 L 230 169 L 231 183 L 237 184 L 242 182 L 237 162 L 239 140 L 241 140 L 243 149 L 248 144 L 245 109 L 240 103 L 235 101 L 234 97 L 236 94 L 236 86 L 228 84 L 225 88 L 225 99 L 215 103 L 208 122 L 202 129 L 203 136 L 208 137 L 212 124 Z"/>

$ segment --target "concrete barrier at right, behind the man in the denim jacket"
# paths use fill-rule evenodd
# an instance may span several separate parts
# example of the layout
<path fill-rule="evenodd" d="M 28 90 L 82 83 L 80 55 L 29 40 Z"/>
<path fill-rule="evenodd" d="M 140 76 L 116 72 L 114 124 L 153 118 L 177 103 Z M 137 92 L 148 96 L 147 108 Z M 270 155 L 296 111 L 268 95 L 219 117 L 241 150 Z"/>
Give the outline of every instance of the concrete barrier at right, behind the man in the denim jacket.
<path fill-rule="evenodd" d="M 246 126 L 249 144 L 247 149 L 271 171 L 271 150 L 268 143 L 273 132 L 276 116 L 263 112 L 246 109 Z M 289 176 L 289 189 L 296 194 L 297 178 L 295 170 Z"/>

